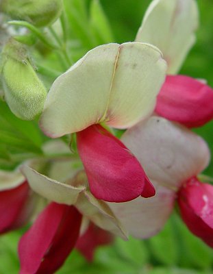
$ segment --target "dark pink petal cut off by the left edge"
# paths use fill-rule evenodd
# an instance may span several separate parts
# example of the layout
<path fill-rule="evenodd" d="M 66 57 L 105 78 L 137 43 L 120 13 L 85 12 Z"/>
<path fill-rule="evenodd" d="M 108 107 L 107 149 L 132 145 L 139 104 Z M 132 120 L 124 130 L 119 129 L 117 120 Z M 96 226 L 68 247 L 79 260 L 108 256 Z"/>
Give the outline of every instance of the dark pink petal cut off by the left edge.
<path fill-rule="evenodd" d="M 0 234 L 21 225 L 18 219 L 20 219 L 28 195 L 27 182 L 16 188 L 0 191 Z"/>

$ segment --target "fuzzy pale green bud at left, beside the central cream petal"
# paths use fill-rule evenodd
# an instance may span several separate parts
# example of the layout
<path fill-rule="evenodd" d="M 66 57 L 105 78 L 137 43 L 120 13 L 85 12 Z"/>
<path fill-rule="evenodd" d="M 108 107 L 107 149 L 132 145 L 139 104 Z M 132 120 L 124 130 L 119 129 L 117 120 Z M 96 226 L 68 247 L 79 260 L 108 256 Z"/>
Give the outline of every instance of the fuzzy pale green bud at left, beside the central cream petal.
<path fill-rule="evenodd" d="M 1 53 L 1 82 L 10 110 L 23 120 L 32 120 L 42 112 L 47 91 L 20 43 L 10 40 Z"/>

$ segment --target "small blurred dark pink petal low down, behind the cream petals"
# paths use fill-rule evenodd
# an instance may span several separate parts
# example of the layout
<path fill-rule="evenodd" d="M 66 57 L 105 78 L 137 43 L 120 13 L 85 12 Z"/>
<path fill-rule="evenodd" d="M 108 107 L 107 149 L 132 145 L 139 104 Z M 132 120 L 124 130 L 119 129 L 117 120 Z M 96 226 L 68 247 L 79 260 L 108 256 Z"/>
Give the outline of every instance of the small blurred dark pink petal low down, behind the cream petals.
<path fill-rule="evenodd" d="M 113 239 L 112 234 L 90 223 L 86 232 L 77 240 L 75 247 L 84 255 L 86 260 L 92 262 L 97 247 L 109 245 Z"/>

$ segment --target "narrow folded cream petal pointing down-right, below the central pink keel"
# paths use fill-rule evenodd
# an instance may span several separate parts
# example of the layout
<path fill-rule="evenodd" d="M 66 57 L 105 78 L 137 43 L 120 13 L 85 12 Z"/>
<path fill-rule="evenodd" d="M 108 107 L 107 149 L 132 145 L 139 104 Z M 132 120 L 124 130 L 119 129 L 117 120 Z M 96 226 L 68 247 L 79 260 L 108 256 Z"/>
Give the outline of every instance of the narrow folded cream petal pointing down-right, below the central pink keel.
<path fill-rule="evenodd" d="M 127 240 L 127 232 L 104 201 L 98 200 L 90 192 L 84 191 L 79 195 L 75 206 L 95 225 Z"/>

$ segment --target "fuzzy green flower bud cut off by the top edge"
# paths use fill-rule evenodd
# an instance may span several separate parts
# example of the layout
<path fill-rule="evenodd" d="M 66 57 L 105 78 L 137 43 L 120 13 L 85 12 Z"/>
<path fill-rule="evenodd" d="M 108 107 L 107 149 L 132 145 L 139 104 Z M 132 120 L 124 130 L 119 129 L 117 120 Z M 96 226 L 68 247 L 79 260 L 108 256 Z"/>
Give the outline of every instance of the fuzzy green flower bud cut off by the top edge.
<path fill-rule="evenodd" d="M 0 10 L 37 27 L 51 25 L 62 12 L 62 0 L 2 0 Z"/>

